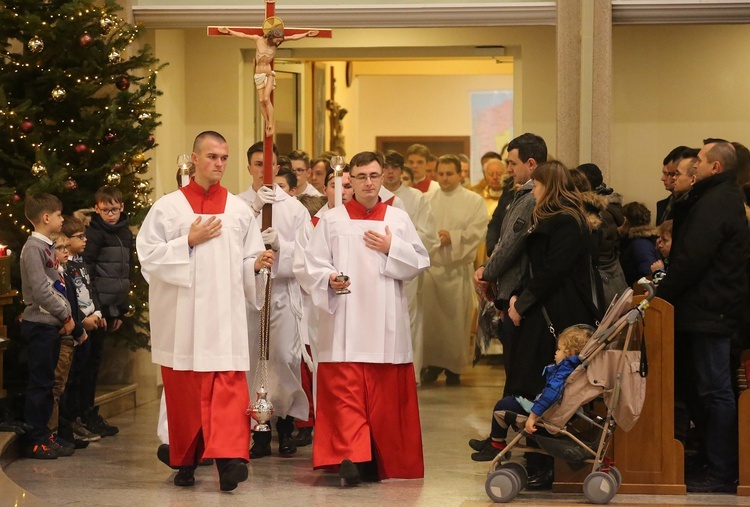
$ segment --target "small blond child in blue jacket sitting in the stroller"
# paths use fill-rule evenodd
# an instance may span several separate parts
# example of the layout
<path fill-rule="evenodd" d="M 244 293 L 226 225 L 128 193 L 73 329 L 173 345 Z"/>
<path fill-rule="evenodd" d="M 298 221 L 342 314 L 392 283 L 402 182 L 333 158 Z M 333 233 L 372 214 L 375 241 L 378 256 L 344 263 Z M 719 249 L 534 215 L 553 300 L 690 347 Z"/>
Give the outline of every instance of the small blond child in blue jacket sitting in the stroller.
<path fill-rule="evenodd" d="M 505 396 L 501 398 L 493 409 L 494 414 L 499 410 L 515 412 L 517 414 L 529 414 L 526 420 L 526 432 L 534 433 L 534 424 L 549 407 L 562 398 L 565 380 L 575 370 L 581 360 L 578 358 L 584 345 L 594 332 L 594 328 L 585 324 L 575 325 L 567 328 L 557 340 L 557 351 L 555 362 L 544 369 L 546 384 L 544 390 L 532 402 L 521 396 Z M 492 461 L 500 451 L 505 449 L 505 437 L 508 436 L 508 426 L 503 421 L 492 418 L 492 431 L 486 440 L 472 439 L 469 446 L 477 452 L 472 453 L 474 461 Z M 477 449 L 478 448 L 478 449 Z"/>

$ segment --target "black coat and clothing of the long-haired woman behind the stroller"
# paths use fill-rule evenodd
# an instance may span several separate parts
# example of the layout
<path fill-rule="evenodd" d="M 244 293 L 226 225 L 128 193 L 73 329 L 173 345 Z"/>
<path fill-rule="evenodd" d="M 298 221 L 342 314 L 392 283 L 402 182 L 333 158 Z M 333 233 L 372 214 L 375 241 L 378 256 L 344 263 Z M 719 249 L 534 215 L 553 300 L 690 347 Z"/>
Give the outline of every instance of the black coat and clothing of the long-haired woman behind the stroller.
<path fill-rule="evenodd" d="M 554 362 L 556 336 L 573 324 L 595 325 L 601 317 L 592 296 L 600 284 L 591 265 L 591 239 L 586 226 L 571 215 L 540 220 L 526 240 L 529 273 L 515 303 L 521 315 L 521 339 L 514 347 L 505 395 L 529 400 L 544 388 L 544 367 Z M 600 289 L 600 287 L 598 287 Z"/>

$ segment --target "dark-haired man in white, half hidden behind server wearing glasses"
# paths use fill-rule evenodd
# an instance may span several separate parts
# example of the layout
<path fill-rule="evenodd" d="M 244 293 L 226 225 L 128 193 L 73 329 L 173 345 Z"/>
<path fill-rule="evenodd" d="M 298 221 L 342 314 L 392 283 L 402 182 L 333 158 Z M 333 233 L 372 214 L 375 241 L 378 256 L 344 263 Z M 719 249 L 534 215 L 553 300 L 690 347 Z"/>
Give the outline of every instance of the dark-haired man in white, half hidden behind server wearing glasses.
<path fill-rule="evenodd" d="M 404 157 L 396 151 L 385 154 L 385 167 L 383 167 L 383 188 L 393 194 L 404 203 L 404 208 L 409 214 L 417 234 L 422 240 L 428 252 L 440 245 L 435 228 L 435 219 L 432 217 L 430 200 L 426 194 L 401 182 L 404 169 Z M 381 190 L 382 192 L 382 190 Z M 414 371 L 417 384 L 420 382 L 419 373 L 422 371 L 422 349 L 424 336 L 424 308 L 423 308 L 423 286 L 424 273 L 413 280 L 405 283 L 406 297 L 409 301 L 409 319 L 411 321 L 411 343 L 414 349 Z"/>

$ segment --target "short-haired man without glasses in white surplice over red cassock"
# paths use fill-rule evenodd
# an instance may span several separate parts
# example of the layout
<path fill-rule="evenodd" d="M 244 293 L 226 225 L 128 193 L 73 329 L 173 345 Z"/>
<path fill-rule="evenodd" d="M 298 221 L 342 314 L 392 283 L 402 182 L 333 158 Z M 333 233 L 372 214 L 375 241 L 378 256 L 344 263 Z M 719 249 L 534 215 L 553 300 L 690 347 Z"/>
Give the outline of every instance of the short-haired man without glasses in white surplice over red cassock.
<path fill-rule="evenodd" d="M 149 211 L 136 238 L 149 283 L 151 353 L 161 365 L 174 483 L 192 486 L 201 459 L 213 458 L 220 487 L 247 479 L 250 368 L 245 306 L 260 302 L 256 273 L 273 264 L 247 205 L 220 181 L 226 140 L 196 137 L 195 179 Z M 258 280 L 260 282 L 260 279 Z"/>

